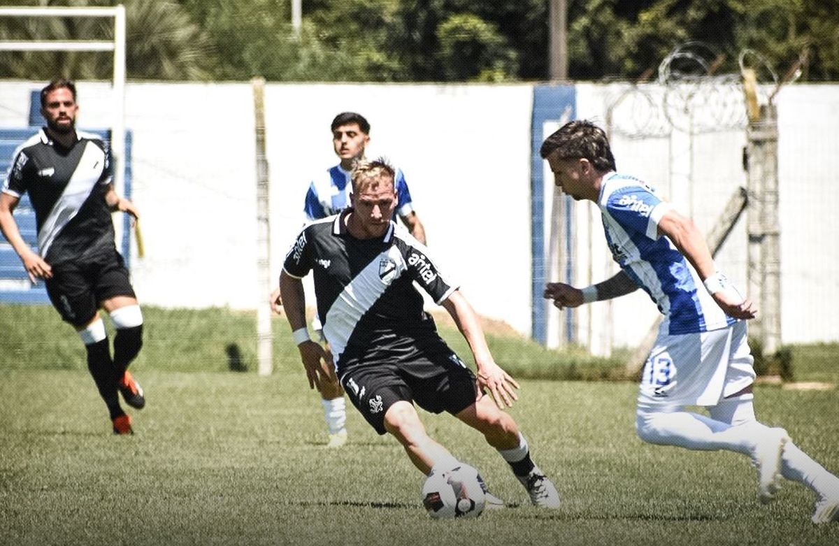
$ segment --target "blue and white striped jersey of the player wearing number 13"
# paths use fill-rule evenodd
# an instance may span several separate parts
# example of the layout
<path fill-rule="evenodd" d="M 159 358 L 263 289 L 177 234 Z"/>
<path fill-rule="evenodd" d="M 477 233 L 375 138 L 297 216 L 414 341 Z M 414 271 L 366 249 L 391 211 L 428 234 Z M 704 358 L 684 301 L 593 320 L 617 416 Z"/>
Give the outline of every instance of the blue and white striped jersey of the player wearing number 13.
<path fill-rule="evenodd" d="M 719 308 L 673 242 L 659 237 L 659 221 L 672 205 L 660 200 L 653 188 L 631 176 L 609 173 L 603 177 L 597 205 L 612 257 L 658 305 L 665 321 L 661 331 L 691 334 L 737 322 Z"/>

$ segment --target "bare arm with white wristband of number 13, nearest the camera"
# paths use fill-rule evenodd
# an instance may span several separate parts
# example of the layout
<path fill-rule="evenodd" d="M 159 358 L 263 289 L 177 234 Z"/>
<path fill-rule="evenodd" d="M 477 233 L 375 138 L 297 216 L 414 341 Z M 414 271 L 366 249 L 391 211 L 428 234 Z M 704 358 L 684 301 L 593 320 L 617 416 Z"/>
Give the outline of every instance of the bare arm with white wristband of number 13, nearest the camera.
<path fill-rule="evenodd" d="M 753 319 L 758 309 L 740 294 L 722 273 L 717 272 L 711 250 L 690 218 L 676 211 L 667 211 L 659 221 L 659 233 L 666 235 L 690 265 L 699 273 L 717 305 L 726 315 L 741 320 Z"/>

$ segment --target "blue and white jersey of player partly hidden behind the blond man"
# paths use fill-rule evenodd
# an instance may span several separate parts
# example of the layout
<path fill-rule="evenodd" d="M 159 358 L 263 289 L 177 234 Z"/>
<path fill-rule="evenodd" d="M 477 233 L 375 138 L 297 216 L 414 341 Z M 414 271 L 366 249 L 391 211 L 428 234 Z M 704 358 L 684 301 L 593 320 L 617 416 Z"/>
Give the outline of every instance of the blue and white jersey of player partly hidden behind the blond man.
<path fill-rule="evenodd" d="M 306 192 L 303 209 L 306 218 L 310 221 L 320 220 L 346 209 L 350 205 L 352 192 L 350 176 L 350 171 L 342 169 L 340 164 L 318 174 L 309 185 L 309 191 Z M 411 204 L 411 193 L 401 169 L 396 169 L 393 185 L 399 199 L 398 208 L 393 211 L 395 220 L 396 215 L 408 216 L 414 211 L 414 205 Z"/>

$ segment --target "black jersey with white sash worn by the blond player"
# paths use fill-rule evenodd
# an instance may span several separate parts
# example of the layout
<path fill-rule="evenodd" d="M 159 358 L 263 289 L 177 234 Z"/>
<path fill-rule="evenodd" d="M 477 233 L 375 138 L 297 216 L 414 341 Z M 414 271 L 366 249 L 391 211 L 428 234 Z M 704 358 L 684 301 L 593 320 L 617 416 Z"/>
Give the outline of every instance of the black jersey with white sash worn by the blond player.
<path fill-rule="evenodd" d="M 285 257 L 294 278 L 314 270 L 315 298 L 336 367 L 350 357 L 388 357 L 436 336 L 416 281 L 437 304 L 457 289 L 427 248 L 391 221 L 383 238 L 357 239 L 350 210 L 303 228 Z"/>

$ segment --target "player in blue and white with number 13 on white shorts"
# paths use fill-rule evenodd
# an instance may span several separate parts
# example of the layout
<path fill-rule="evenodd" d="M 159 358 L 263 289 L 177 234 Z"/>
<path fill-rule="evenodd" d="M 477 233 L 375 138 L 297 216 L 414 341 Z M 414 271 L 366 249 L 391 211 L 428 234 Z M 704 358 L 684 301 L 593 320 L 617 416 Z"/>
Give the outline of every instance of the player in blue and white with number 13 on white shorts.
<path fill-rule="evenodd" d="M 600 208 L 612 257 L 621 267 L 614 277 L 583 289 L 548 283 L 545 297 L 562 309 L 640 287 L 664 314 L 641 379 L 638 436 L 651 444 L 748 455 L 758 468 L 762 502 L 774 496 L 784 476 L 816 492 L 814 523 L 839 518 L 839 478 L 805 455 L 784 429 L 755 418 L 745 320 L 756 309 L 717 271 L 693 222 L 649 185 L 615 172 L 606 133 L 591 122 L 560 127 L 545 139 L 541 155 L 562 191 Z M 686 411 L 688 405 L 707 408 L 710 417 Z"/>

